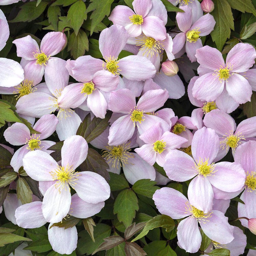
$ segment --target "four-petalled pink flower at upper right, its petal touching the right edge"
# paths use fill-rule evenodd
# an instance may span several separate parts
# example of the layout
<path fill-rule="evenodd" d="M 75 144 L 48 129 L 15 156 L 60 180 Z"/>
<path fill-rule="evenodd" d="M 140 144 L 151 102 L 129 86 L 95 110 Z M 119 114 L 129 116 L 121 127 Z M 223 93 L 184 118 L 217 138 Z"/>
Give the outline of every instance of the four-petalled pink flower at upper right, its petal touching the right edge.
<path fill-rule="evenodd" d="M 246 72 L 254 63 L 256 51 L 247 43 L 236 44 L 226 57 L 226 64 L 219 50 L 204 46 L 197 49 L 197 72 L 192 94 L 198 100 L 214 101 L 227 92 L 227 96 L 239 104 L 250 101 L 252 87 L 247 79 L 238 73 Z M 229 100 L 224 95 L 222 100 Z"/>

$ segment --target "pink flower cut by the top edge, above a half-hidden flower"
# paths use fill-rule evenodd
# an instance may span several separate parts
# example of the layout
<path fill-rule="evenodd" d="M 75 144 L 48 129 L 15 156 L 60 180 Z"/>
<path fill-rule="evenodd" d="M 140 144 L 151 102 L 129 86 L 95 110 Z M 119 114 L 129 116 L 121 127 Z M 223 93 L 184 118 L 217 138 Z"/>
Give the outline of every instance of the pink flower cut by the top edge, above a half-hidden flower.
<path fill-rule="evenodd" d="M 123 26 L 130 37 L 144 33 L 156 40 L 165 39 L 167 11 L 163 3 L 160 0 L 134 0 L 132 5 L 134 11 L 128 6 L 116 6 L 108 19 Z"/>

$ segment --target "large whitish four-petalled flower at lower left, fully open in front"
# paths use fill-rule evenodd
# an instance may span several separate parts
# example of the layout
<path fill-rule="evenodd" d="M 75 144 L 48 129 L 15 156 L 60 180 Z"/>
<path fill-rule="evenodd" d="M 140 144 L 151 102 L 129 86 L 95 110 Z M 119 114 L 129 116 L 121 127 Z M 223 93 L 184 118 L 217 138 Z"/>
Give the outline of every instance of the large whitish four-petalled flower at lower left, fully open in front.
<path fill-rule="evenodd" d="M 61 166 L 49 154 L 39 150 L 24 156 L 24 170 L 31 178 L 54 182 L 44 193 L 42 203 L 42 213 L 47 222 L 60 222 L 68 214 L 71 203 L 69 186 L 88 203 L 103 202 L 110 196 L 110 187 L 102 176 L 90 171 L 75 171 L 86 159 L 87 151 L 86 140 L 73 135 L 64 141 Z"/>

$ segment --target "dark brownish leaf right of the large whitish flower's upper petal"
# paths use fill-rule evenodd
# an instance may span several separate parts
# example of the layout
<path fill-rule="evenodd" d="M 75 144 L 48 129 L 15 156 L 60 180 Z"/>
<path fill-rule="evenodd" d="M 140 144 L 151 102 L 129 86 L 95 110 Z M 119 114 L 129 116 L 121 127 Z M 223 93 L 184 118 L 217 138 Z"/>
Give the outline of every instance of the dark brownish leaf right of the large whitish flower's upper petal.
<path fill-rule="evenodd" d="M 106 160 L 94 149 L 89 148 L 87 158 L 80 165 L 81 171 L 93 171 L 105 178 L 106 181 L 110 179 L 107 171 L 109 166 Z"/>

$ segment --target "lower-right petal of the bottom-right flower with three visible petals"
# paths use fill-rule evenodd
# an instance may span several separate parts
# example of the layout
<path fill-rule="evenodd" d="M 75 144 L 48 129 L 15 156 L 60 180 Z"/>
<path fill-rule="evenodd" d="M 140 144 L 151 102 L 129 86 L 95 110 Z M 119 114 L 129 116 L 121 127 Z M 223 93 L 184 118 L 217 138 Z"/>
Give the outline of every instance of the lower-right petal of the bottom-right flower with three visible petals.
<path fill-rule="evenodd" d="M 207 220 L 209 221 L 201 221 L 200 226 L 208 238 L 220 244 L 228 244 L 234 239 L 234 226 L 228 223 L 228 217 L 224 213 L 212 210 L 212 215 Z"/>

